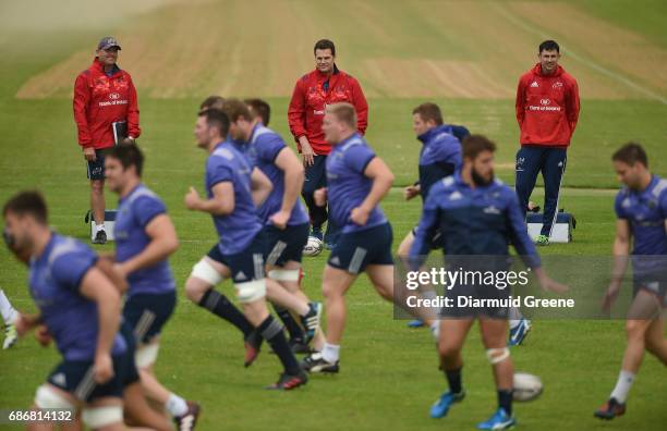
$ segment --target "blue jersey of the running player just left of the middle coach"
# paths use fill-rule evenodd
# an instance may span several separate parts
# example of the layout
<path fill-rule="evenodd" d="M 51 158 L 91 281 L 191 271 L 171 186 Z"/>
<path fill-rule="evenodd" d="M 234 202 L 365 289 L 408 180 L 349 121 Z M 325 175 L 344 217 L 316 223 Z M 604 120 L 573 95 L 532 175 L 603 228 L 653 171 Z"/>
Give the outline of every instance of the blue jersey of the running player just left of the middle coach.
<path fill-rule="evenodd" d="M 283 149 L 288 148 L 284 140 L 276 132 L 262 124 L 253 128 L 250 143 L 246 144 L 245 153 L 254 167 L 271 181 L 274 189 L 269 197 L 258 209 L 259 219 L 265 224 L 271 224 L 269 217 L 280 211 L 282 208 L 282 197 L 284 196 L 284 172 L 276 165 L 276 158 Z M 288 148 L 288 151 L 291 151 Z M 301 192 L 301 190 L 300 190 Z M 308 222 L 308 216 L 301 199 L 296 199 L 288 225 L 304 224 Z"/>

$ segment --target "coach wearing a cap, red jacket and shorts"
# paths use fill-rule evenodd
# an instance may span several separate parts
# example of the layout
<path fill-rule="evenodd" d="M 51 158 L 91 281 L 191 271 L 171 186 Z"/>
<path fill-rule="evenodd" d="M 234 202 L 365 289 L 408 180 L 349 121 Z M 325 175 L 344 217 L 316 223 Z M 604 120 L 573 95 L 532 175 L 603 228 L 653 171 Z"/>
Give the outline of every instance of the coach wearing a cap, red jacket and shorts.
<path fill-rule="evenodd" d="M 121 143 L 133 144 L 142 133 L 132 77 L 116 64 L 120 49 L 114 38 L 102 38 L 93 64 L 80 73 L 74 83 L 74 121 L 90 180 L 90 208 L 97 225 L 95 244 L 107 242 L 105 150 L 116 145 L 112 124 L 125 123 L 126 136 L 119 137 Z"/>

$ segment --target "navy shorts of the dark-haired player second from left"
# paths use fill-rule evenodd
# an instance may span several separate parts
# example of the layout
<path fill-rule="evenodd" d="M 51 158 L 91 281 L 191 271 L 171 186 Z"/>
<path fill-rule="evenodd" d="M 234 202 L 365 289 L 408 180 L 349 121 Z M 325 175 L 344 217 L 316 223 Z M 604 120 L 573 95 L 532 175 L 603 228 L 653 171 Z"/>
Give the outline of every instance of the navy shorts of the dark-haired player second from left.
<path fill-rule="evenodd" d="M 123 308 L 123 318 L 141 344 L 160 334 L 175 308 L 175 291 L 163 294 L 131 295 Z"/>

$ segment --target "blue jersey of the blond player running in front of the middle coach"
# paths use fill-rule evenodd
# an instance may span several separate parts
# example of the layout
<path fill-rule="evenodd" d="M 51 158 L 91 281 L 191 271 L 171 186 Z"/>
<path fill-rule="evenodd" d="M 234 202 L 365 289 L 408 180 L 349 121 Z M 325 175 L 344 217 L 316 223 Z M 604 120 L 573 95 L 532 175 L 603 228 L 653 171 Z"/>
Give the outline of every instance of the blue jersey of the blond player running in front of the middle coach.
<path fill-rule="evenodd" d="M 327 195 L 329 218 L 342 226 L 341 232 L 357 232 L 387 222 L 385 213 L 375 207 L 366 224 L 359 225 L 350 220 L 352 209 L 359 207 L 373 186 L 373 180 L 364 175 L 375 152 L 357 133 L 333 146 L 327 157 Z"/>

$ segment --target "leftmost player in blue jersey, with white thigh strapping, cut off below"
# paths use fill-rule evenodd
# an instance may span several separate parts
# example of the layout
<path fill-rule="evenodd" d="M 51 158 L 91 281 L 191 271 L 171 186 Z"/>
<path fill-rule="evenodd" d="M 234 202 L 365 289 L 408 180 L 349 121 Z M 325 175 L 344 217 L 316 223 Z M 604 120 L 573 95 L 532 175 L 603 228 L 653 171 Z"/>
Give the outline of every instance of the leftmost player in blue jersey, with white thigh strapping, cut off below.
<path fill-rule="evenodd" d="M 49 229 L 47 207 L 36 192 L 12 197 L 2 210 L 10 249 L 29 260 L 31 295 L 38 316 L 19 313 L 16 331 L 24 335 L 44 323 L 56 341 L 61 362 L 35 395 L 36 409 L 83 408 L 83 422 L 95 430 L 122 430 L 123 380 L 128 345 L 119 335 L 121 298 L 96 268 L 97 255 L 76 239 Z M 28 429 L 50 424 L 29 423 Z"/>

